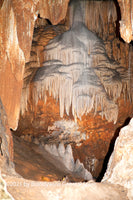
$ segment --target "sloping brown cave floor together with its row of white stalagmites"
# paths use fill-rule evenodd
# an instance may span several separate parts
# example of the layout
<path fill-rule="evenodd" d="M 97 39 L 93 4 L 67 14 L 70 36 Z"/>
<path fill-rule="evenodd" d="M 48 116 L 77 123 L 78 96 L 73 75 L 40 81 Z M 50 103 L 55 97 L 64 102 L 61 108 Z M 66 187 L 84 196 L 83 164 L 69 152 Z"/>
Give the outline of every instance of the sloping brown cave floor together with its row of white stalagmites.
<path fill-rule="evenodd" d="M 19 137 L 14 137 L 14 164 L 16 172 L 23 178 L 34 181 L 60 181 L 66 176 L 70 182 L 92 179 L 91 174 L 84 168 L 82 163 L 74 164 L 72 149 L 66 148 L 69 150 L 67 151 L 62 149 L 63 147 L 61 145 L 60 152 L 58 152 L 58 149 L 54 149 L 54 152 L 51 152 L 51 154 L 49 153 L 50 149 L 48 146 L 48 151 L 46 151 L 40 144 L 37 145 L 26 142 Z M 69 145 L 69 147 L 71 146 Z M 72 167 L 75 167 L 75 165 L 77 170 L 73 171 Z M 84 179 L 86 177 L 84 175 L 90 175 L 90 178 Z"/>

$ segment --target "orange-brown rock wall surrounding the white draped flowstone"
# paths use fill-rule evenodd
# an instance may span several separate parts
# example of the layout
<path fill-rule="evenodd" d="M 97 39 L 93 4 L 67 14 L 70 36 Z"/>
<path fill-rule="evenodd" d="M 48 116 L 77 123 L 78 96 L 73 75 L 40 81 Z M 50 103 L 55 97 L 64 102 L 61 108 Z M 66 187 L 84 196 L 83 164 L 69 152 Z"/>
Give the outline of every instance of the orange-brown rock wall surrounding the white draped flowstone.
<path fill-rule="evenodd" d="M 87 10 L 89 10 L 89 12 L 87 12 Z M 95 12 L 95 10 L 97 10 L 97 12 Z M 98 114 L 94 116 L 94 110 L 92 110 L 89 114 L 83 115 L 81 120 L 77 119 L 78 125 L 76 128 L 75 126 L 69 127 L 74 123 L 71 109 L 69 116 L 64 112 L 63 119 L 60 117 L 58 98 L 54 99 L 52 95 L 47 94 L 47 100 L 44 103 L 40 93 L 40 98 L 38 97 L 39 100 L 37 100 L 36 103 L 34 101 L 38 96 L 37 91 L 34 90 L 34 76 L 38 67 L 41 67 L 43 63 L 46 62 L 45 58 L 47 56 L 44 55 L 42 50 L 50 39 L 56 35 L 60 35 L 72 26 L 72 22 L 68 17 L 71 16 L 72 13 L 73 10 L 69 8 L 64 25 L 60 24 L 54 27 L 46 24 L 44 26 L 38 25 L 34 31 L 31 57 L 30 61 L 26 63 L 24 74 L 21 117 L 16 134 L 34 135 L 34 137 L 40 137 L 40 135 L 42 135 L 46 143 L 58 144 L 60 141 L 63 141 L 65 144 L 71 143 L 75 159 L 79 158 L 93 176 L 97 177 L 101 171 L 110 141 L 114 137 L 115 132 L 117 132 L 117 128 L 121 127 L 129 116 L 132 116 L 130 97 L 126 95 L 126 100 L 124 100 L 124 95 L 122 94 L 118 99 L 119 114 L 115 125 L 112 122 L 107 122 L 104 117 L 102 119 Z M 129 59 L 127 58 L 130 57 L 129 45 L 116 37 L 115 22 L 117 16 L 116 7 L 113 2 L 90 1 L 86 3 L 84 13 L 86 26 L 103 39 L 109 58 L 111 60 L 116 60 L 120 63 L 120 66 L 127 69 L 129 64 Z M 94 20 L 90 21 L 90 18 Z M 55 52 L 56 50 L 53 51 L 54 55 Z M 47 54 L 47 52 L 45 54 Z M 59 56 L 60 55 L 61 53 L 59 52 Z M 40 76 L 41 74 L 42 73 L 40 73 Z M 42 88 L 44 88 L 44 85 Z M 50 87 L 48 88 L 50 89 Z M 66 92 L 66 90 L 64 91 Z M 24 106 L 25 103 L 26 107 Z"/>

